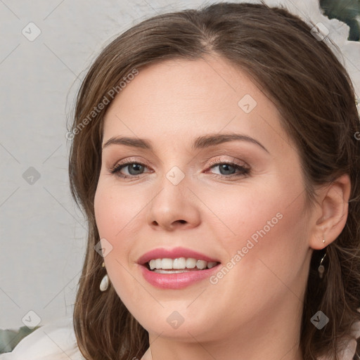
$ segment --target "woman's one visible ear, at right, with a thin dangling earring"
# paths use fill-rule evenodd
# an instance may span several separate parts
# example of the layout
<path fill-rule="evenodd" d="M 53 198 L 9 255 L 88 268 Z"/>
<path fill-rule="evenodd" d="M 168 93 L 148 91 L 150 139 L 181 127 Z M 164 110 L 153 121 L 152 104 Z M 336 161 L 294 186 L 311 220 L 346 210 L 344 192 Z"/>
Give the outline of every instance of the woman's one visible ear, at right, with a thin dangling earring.
<path fill-rule="evenodd" d="M 322 187 L 313 212 L 309 246 L 321 250 L 332 243 L 344 229 L 349 209 L 351 183 L 348 174 Z M 325 239 L 325 243 L 323 243 Z"/>

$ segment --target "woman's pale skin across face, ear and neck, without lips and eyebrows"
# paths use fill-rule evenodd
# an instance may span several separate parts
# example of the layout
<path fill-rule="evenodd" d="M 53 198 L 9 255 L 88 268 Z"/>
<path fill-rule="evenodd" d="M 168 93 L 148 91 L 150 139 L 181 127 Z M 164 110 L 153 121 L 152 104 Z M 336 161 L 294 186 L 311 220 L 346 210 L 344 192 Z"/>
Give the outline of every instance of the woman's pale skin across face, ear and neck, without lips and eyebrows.
<path fill-rule="evenodd" d="M 250 113 L 238 105 L 246 94 L 257 102 Z M 208 134 L 243 134 L 266 150 L 251 141 L 191 148 Z M 318 203 L 307 208 L 300 158 L 276 105 L 245 72 L 217 57 L 139 70 L 105 115 L 103 144 L 115 136 L 153 146 L 105 146 L 94 204 L 100 237 L 113 246 L 104 258 L 110 282 L 149 333 L 141 360 L 303 359 L 311 253 L 345 226 L 349 176 L 319 187 Z M 144 166 L 123 167 L 120 174 L 130 179 L 111 174 L 124 160 Z M 212 160 L 250 174 L 236 167 L 221 172 Z M 184 174 L 177 185 L 166 176 L 174 166 Z M 283 217 L 216 284 L 155 288 L 136 264 L 149 250 L 182 246 L 225 265 L 278 213 Z M 174 311 L 184 319 L 178 328 L 167 321 Z"/>

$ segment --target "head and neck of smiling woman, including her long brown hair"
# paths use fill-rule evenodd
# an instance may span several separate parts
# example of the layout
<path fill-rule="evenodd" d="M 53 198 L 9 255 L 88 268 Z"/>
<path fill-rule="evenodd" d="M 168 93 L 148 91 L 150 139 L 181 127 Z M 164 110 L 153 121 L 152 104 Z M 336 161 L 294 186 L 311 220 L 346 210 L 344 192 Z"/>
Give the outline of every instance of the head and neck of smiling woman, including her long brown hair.
<path fill-rule="evenodd" d="M 360 124 L 327 41 L 222 3 L 98 56 L 69 133 L 84 359 L 357 359 Z"/>

